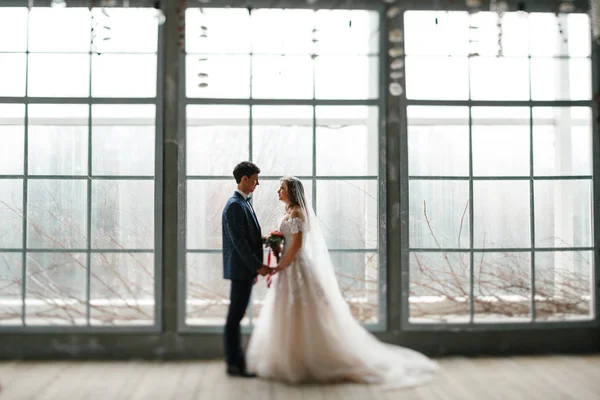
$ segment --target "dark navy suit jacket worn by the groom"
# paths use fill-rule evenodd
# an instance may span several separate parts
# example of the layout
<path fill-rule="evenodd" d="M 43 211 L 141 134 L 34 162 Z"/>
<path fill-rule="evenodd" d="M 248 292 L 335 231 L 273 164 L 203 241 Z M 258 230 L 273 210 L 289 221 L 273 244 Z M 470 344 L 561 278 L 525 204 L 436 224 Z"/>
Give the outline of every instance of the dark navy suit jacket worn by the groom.
<path fill-rule="evenodd" d="M 223 215 L 223 278 L 251 280 L 263 265 L 260 225 L 250 204 L 238 192 L 227 200 Z"/>

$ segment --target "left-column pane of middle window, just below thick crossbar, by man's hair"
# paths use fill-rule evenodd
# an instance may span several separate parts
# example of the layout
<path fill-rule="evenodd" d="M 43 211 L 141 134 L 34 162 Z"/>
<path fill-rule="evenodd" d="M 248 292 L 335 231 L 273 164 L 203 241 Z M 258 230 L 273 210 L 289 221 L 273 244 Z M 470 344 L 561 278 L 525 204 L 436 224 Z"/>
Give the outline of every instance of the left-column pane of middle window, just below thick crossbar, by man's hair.
<path fill-rule="evenodd" d="M 187 106 L 186 173 L 233 177 L 248 160 L 249 118 L 247 106 Z"/>

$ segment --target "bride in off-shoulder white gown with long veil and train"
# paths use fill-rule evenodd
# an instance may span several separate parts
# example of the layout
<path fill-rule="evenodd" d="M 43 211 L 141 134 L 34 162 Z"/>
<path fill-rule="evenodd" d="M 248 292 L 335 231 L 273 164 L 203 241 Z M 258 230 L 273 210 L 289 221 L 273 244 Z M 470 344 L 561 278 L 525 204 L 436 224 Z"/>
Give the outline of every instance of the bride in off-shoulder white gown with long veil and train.
<path fill-rule="evenodd" d="M 429 380 L 437 364 L 385 344 L 352 316 L 302 182 L 283 177 L 282 258 L 248 344 L 248 369 L 288 383 L 354 381 L 405 387 Z"/>

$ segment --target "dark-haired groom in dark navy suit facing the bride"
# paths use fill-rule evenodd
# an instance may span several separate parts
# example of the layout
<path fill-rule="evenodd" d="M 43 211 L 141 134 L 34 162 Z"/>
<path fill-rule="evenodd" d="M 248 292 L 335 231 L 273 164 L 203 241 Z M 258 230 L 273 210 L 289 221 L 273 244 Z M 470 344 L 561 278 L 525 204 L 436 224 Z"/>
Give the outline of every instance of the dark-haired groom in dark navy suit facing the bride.
<path fill-rule="evenodd" d="M 252 285 L 257 274 L 270 272 L 263 265 L 262 235 L 260 225 L 249 202 L 250 193 L 259 185 L 260 169 L 251 162 L 235 166 L 233 176 L 237 189 L 227 200 L 223 209 L 223 278 L 231 280 L 229 312 L 225 323 L 225 360 L 227 374 L 252 378 L 246 371 L 246 360 L 242 350 L 240 322 L 244 318 Z"/>

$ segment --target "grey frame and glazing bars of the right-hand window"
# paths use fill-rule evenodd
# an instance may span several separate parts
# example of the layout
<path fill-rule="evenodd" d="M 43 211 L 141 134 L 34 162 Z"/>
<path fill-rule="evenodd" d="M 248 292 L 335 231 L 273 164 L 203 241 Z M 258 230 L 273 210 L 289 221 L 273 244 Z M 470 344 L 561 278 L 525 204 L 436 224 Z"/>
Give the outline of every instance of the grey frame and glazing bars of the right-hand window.
<path fill-rule="evenodd" d="M 537 9 L 541 8 L 541 9 Z M 429 7 L 409 7 L 398 16 L 398 25 L 400 29 L 404 32 L 404 12 L 406 11 L 435 11 Z M 454 7 L 452 11 L 466 11 L 464 6 Z M 550 12 L 547 8 L 540 6 L 536 7 L 536 10 L 531 10 L 529 12 Z M 404 51 L 404 42 L 401 43 L 401 48 Z M 463 57 L 463 56 L 461 56 Z M 465 56 L 469 60 L 469 65 L 471 60 L 475 57 L 473 56 Z M 525 56 L 524 56 L 525 57 Z M 402 60 L 405 60 L 406 55 L 403 52 Z M 531 59 L 535 58 L 531 54 L 528 54 L 528 64 L 529 64 L 529 77 L 531 78 Z M 566 58 L 567 57 L 558 57 L 555 56 L 553 59 Z M 597 48 L 592 44 L 591 46 L 591 55 L 589 57 L 591 59 L 591 68 L 592 68 L 592 90 L 598 87 L 598 54 Z M 403 87 L 406 87 L 406 77 L 401 79 L 401 84 Z M 469 75 L 469 88 L 471 86 L 471 76 Z M 531 98 L 531 83 L 529 84 L 529 92 Z M 597 178 L 600 173 L 600 159 L 599 159 L 599 139 L 598 139 L 598 106 L 594 99 L 594 94 L 590 100 L 523 100 L 523 101 L 511 101 L 511 100 L 471 100 L 470 90 L 469 90 L 469 99 L 468 100 L 417 100 L 417 99 L 408 99 L 406 96 L 406 92 L 402 93 L 399 96 L 399 103 L 402 108 L 402 120 L 400 123 L 400 203 L 401 203 L 401 212 L 403 215 L 406 215 L 407 218 L 402 220 L 400 227 L 400 247 L 401 247 L 401 270 L 402 270 L 402 280 L 401 280 L 401 303 L 400 303 L 400 326 L 403 331 L 406 332 L 439 332 L 439 331 L 459 331 L 459 332 L 467 332 L 467 331 L 507 331 L 507 330 L 544 330 L 551 328 L 589 328 L 589 327 L 598 327 L 600 326 L 600 296 L 598 293 L 598 288 L 600 288 L 600 266 L 597 263 L 598 257 L 598 238 L 600 238 L 600 219 L 598 218 L 598 213 L 596 212 L 597 201 L 600 198 L 600 182 Z M 408 162 L 408 118 L 407 118 L 407 110 L 410 106 L 463 106 L 468 107 L 469 110 L 469 122 L 468 122 L 468 136 L 469 136 L 469 173 L 468 176 L 428 176 L 428 175 L 418 175 L 411 176 L 408 173 L 409 162 Z M 550 176 L 550 175 L 534 175 L 534 139 L 533 139 L 533 130 L 534 130 L 534 118 L 533 118 L 533 109 L 534 107 L 589 107 L 591 108 L 591 116 L 592 116 L 592 175 L 566 175 L 566 176 Z M 529 176 L 474 176 L 473 174 L 473 117 L 472 110 L 473 107 L 527 107 L 529 109 L 529 163 L 530 170 Z M 569 180 L 589 180 L 591 181 L 591 223 L 592 223 L 592 244 L 587 247 L 536 247 L 535 244 L 535 182 L 536 181 L 569 181 Z M 413 248 L 410 247 L 409 239 L 410 239 L 410 223 L 409 223 L 409 184 L 412 180 L 421 180 L 421 181 L 457 181 L 457 182 L 468 182 L 469 184 L 469 239 L 470 246 L 468 249 L 457 249 L 457 248 Z M 530 247 L 524 248 L 477 248 L 474 247 L 474 237 L 473 237 L 473 184 L 474 182 L 483 182 L 483 181 L 505 181 L 505 180 L 517 180 L 517 181 L 528 181 L 529 182 L 529 190 L 530 190 L 530 234 L 531 234 L 531 245 Z M 474 320 L 475 310 L 474 310 L 474 300 L 473 300 L 473 288 L 474 288 L 474 254 L 475 253 L 498 253 L 498 252 L 512 252 L 512 251 L 525 251 L 530 254 L 531 257 L 531 265 L 530 265 L 530 278 L 531 278 L 531 290 L 530 290 L 530 315 L 531 320 L 526 322 L 476 322 Z M 588 320 L 536 320 L 536 308 L 535 308 L 535 255 L 540 252 L 551 252 L 551 251 L 589 251 L 592 255 L 591 262 L 591 276 L 590 276 L 590 294 L 592 299 L 590 301 L 590 313 L 592 314 L 592 318 Z M 409 268 L 410 268 L 410 256 L 411 253 L 420 253 L 420 252 L 428 252 L 428 253 L 466 253 L 469 254 L 470 260 L 470 278 L 469 278 L 469 321 L 468 322 L 410 322 L 410 278 L 409 278 Z"/>

